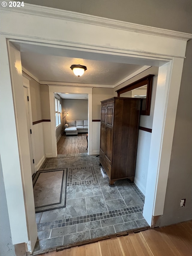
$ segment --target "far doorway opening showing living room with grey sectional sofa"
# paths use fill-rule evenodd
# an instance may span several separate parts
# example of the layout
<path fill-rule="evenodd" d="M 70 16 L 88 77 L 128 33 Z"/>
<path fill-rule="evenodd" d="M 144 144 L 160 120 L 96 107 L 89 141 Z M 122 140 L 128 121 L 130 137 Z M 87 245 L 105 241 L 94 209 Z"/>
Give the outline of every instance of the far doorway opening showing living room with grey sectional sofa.
<path fill-rule="evenodd" d="M 56 126 L 57 154 L 88 153 L 88 94 L 57 95 L 61 104 L 61 125 Z"/>

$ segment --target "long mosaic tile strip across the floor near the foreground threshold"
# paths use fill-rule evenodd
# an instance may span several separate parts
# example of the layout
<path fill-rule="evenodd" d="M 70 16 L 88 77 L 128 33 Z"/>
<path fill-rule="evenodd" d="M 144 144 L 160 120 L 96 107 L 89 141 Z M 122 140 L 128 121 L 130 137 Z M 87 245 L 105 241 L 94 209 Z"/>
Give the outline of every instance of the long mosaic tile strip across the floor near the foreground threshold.
<path fill-rule="evenodd" d="M 37 224 L 37 228 L 38 228 L 38 231 L 42 231 L 42 230 L 54 229 L 58 227 L 76 225 L 76 224 L 90 222 L 90 221 L 108 219 L 108 218 L 113 218 L 113 217 L 122 216 L 122 215 L 129 215 L 137 212 L 143 213 L 143 206 L 144 205 L 142 204 L 137 206 L 131 206 L 124 209 L 113 210 L 109 212 L 99 212 L 99 213 L 83 215 L 79 217 L 41 222 Z"/>

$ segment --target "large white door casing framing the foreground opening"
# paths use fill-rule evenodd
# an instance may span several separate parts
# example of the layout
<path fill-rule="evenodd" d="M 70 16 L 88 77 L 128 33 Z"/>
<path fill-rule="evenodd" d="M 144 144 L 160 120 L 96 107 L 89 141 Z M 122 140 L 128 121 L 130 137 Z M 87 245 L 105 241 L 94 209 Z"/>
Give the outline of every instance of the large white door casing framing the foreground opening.
<path fill-rule="evenodd" d="M 16 74 L 14 63 L 9 68 L 7 38 L 11 38 L 12 41 L 22 40 L 23 42 L 48 47 L 71 48 L 85 52 L 87 56 L 96 53 L 108 58 L 111 56 L 119 59 L 126 58 L 132 64 L 134 62 L 135 64 L 160 66 L 149 157 L 148 177 L 151 178 L 147 180 L 146 203 L 143 213 L 151 225 L 153 215 L 163 214 L 182 65 L 186 42 L 191 38 L 191 35 L 40 6 L 26 5 L 23 9 L 17 8 L 16 11 L 13 9 L 4 8 L 1 11 L 0 76 L 2 86 L 0 95 L 6 95 L 6 100 L 9 101 L 7 107 L 9 115 L 3 112 L 5 102 L 0 101 L 0 114 L 3 123 L 12 124 L 9 120 L 9 116 L 14 111 L 10 73 L 12 83 Z M 12 22 L 12 12 L 14 12 L 14 20 L 17 22 Z M 23 12 L 25 15 L 21 15 L 19 12 Z M 64 20 L 67 20 L 67 22 L 64 22 Z M 18 26 L 18 24 L 22 24 L 22 26 Z M 8 48 L 11 48 L 10 41 L 8 42 Z M 9 56 L 13 57 L 14 52 L 15 50 L 9 51 Z M 164 65 L 166 62 L 167 64 Z M 13 96 L 14 93 L 13 90 Z M 24 106 L 22 93 L 20 96 L 17 94 L 17 97 L 14 96 L 13 98 L 14 104 L 18 104 L 17 101 L 20 101 Z M 19 122 L 20 116 L 19 113 L 17 114 L 15 120 Z M 22 165 L 25 161 L 19 162 L 17 140 L 19 147 L 22 148 L 22 145 L 20 145 L 20 138 L 16 134 L 16 126 L 12 125 L 11 136 L 9 129 L 5 129 L 1 123 L 0 128 L 0 152 L 12 240 L 13 243 L 27 242 L 29 239 L 26 236 L 27 229 L 34 237 L 37 235 L 34 227 L 30 224 L 35 216 L 33 212 L 34 205 L 31 205 L 30 208 L 27 203 L 28 200 L 24 200 L 24 198 L 32 197 L 32 191 L 26 191 L 26 184 L 30 182 L 26 183 L 25 179 L 22 180 L 20 174 L 17 179 L 14 179 L 14 188 L 10 190 L 10 176 L 13 175 L 13 166 L 11 163 L 7 164 L 7 153 L 9 152 L 12 154 L 14 168 L 16 168 L 17 173 L 19 173 L 20 168 L 23 168 Z M 20 127 L 18 130 L 21 132 L 22 128 L 21 131 Z M 8 137 L 10 139 L 5 141 L 5 138 Z M 27 132 L 22 133 L 22 137 L 27 140 Z M 10 146 L 12 146 L 11 152 Z M 25 157 L 23 160 L 25 160 Z M 30 165 L 29 157 L 27 163 Z M 150 186 L 152 185 L 151 188 L 148 188 L 149 182 Z M 13 189 L 14 199 L 11 192 Z M 12 203 L 14 206 L 17 204 L 20 207 L 14 207 L 13 210 Z M 30 215 L 30 211 L 34 215 Z M 19 222 L 19 227 L 14 223 L 17 216 L 19 219 L 23 217 Z M 28 221 L 26 221 L 26 216 L 28 216 Z"/>

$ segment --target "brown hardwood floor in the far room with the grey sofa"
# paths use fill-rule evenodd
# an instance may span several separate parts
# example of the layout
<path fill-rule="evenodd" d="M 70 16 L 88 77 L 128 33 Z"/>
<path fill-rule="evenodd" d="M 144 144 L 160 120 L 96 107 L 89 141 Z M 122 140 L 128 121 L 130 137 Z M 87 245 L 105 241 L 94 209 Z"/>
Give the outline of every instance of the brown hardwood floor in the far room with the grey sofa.
<path fill-rule="evenodd" d="M 61 136 L 57 143 L 57 154 L 78 154 L 86 153 L 87 140 L 86 134 L 79 133 L 77 136 L 66 136 L 65 133 Z"/>

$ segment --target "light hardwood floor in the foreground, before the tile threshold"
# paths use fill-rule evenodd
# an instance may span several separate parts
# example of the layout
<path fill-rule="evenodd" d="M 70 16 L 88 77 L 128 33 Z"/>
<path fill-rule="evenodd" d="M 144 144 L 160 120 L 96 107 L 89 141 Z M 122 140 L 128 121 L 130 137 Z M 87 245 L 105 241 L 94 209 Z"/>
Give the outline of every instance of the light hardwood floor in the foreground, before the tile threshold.
<path fill-rule="evenodd" d="M 192 221 L 115 236 L 41 256 L 188 256 L 192 255 Z"/>

